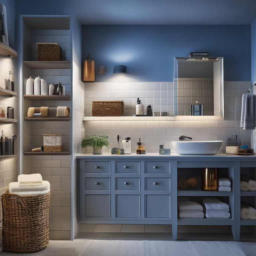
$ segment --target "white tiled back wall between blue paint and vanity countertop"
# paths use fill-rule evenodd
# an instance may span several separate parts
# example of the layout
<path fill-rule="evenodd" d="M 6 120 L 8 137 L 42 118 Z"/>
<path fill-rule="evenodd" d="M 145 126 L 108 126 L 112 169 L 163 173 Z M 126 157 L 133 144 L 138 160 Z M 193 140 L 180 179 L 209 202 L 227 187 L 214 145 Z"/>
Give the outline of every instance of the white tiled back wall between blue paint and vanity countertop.
<path fill-rule="evenodd" d="M 191 86 L 193 85 L 189 81 L 189 87 L 191 88 Z M 168 143 L 167 145 L 170 145 L 170 142 L 178 140 L 180 135 L 192 137 L 193 140 L 223 140 L 221 152 L 225 149 L 225 142 L 232 133 L 238 135 L 239 142 L 242 139 L 243 143 L 250 145 L 250 130 L 240 128 L 241 98 L 249 87 L 249 81 L 224 82 L 224 120 L 85 121 L 85 135 L 109 135 L 110 145 L 105 149 L 118 146 L 117 134 L 122 138 L 131 137 L 133 152 L 136 150 L 136 142 L 141 138 L 145 142 L 148 153 L 157 152 L 161 144 Z M 106 88 L 109 88 L 107 94 L 105 93 Z M 188 93 L 184 88 L 181 93 Z M 195 85 L 195 91 L 196 88 Z M 99 91 L 104 91 L 104 93 Z M 104 95 L 104 97 L 96 97 L 96 92 L 97 95 Z M 115 97 L 113 97 L 114 92 L 118 92 L 114 94 Z M 204 93 L 206 92 L 202 90 L 202 95 Z M 135 114 L 138 95 L 145 114 L 146 107 L 150 104 L 153 113 L 168 112 L 169 115 L 173 115 L 173 82 L 85 83 L 85 95 L 85 116 L 92 115 L 92 101 L 97 100 L 123 100 L 124 116 L 132 116 Z M 121 96 L 116 97 L 117 95 Z M 191 97 L 192 95 L 190 95 Z"/>

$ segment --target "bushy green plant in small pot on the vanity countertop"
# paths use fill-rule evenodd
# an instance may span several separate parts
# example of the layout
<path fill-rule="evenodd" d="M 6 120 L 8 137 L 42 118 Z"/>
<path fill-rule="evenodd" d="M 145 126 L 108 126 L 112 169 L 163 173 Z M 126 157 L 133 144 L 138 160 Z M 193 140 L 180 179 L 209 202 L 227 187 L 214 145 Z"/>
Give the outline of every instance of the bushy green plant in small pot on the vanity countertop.
<path fill-rule="evenodd" d="M 93 154 L 102 154 L 102 147 L 108 145 L 107 135 L 88 135 L 81 142 L 82 148 L 92 147 Z"/>

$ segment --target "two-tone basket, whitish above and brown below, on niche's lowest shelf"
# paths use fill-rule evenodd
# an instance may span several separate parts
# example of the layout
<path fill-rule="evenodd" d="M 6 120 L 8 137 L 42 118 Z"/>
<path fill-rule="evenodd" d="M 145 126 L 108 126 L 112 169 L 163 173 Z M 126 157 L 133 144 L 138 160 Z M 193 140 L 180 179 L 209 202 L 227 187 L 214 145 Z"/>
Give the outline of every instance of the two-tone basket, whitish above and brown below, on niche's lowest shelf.
<path fill-rule="evenodd" d="M 62 134 L 43 134 L 44 152 L 62 151 Z"/>

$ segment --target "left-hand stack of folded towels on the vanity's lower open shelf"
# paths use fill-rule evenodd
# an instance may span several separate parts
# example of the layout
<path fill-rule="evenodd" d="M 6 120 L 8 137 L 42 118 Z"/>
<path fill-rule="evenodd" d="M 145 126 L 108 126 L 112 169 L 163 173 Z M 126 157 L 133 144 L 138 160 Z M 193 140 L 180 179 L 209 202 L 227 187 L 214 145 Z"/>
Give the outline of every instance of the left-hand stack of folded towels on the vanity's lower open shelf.
<path fill-rule="evenodd" d="M 178 208 L 180 218 L 204 218 L 202 205 L 188 197 L 178 197 Z"/>

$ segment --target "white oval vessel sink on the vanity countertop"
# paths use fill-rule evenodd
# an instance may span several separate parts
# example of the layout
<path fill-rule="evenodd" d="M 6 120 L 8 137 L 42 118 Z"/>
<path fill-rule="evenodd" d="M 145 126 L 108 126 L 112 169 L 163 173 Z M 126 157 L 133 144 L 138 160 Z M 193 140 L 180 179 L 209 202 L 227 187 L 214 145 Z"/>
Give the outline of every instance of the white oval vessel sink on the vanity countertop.
<path fill-rule="evenodd" d="M 172 141 L 174 151 L 179 155 L 215 155 L 223 141 Z"/>

